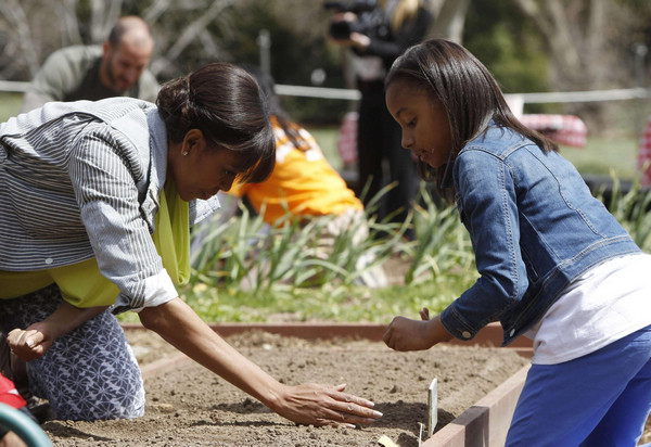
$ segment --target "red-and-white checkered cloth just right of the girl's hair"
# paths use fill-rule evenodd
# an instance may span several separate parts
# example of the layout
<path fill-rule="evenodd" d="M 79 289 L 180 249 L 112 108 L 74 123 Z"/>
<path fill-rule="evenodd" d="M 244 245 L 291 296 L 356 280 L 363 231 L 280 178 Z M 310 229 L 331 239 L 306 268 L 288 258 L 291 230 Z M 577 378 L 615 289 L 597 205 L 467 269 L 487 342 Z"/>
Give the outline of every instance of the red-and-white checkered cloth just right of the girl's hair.
<path fill-rule="evenodd" d="M 588 139 L 588 128 L 574 115 L 526 114 L 520 123 L 557 143 L 573 148 L 585 148 Z"/>

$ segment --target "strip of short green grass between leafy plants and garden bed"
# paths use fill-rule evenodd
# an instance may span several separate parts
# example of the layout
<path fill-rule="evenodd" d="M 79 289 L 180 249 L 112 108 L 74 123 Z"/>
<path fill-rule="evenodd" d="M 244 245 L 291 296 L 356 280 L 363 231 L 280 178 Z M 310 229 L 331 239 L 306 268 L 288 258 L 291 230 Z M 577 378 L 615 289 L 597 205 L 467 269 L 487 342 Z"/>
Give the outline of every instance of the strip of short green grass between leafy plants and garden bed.
<path fill-rule="evenodd" d="M 232 293 L 202 283 L 181 289 L 181 296 L 205 321 L 210 322 L 388 323 L 397 315 L 419 318 L 418 312 L 423 307 L 429 307 L 433 314 L 441 312 L 472 285 L 476 271 L 472 269 L 467 273 L 444 274 L 409 286 L 366 289 L 327 285 L 257 294 L 241 291 Z M 133 312 L 125 312 L 119 318 L 123 322 L 139 321 Z"/>

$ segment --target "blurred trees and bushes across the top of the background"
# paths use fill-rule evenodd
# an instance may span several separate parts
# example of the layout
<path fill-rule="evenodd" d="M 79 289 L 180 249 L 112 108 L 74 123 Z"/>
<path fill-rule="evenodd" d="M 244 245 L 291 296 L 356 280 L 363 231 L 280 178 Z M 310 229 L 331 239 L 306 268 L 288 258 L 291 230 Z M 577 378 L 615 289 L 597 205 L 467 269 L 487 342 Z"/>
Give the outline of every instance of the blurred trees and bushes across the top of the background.
<path fill-rule="evenodd" d="M 349 0 L 353 1 L 353 0 Z M 458 40 L 495 74 L 507 93 L 628 88 L 647 84 L 649 64 L 636 68 L 636 46 L 651 44 L 648 0 L 429 0 L 434 30 L 446 29 L 445 9 L 457 8 Z M 451 7 L 450 7 L 451 5 Z M 260 63 L 260 31 L 270 37 L 278 84 L 349 87 L 343 51 L 326 37 L 331 12 L 304 0 L 3 0 L 0 2 L 0 79 L 28 81 L 58 48 L 101 42 L 117 17 L 142 16 L 156 49 L 161 81 L 205 63 Z M 436 23 L 438 22 L 438 23 Z M 637 72 L 636 72 L 637 69 Z M 320 76 L 312 82 L 315 74 Z M 528 104 L 527 113 L 574 113 L 591 132 L 612 123 L 612 104 Z M 341 123 L 354 104 L 286 98 L 305 124 Z M 618 113 L 618 112 L 615 112 Z M 605 117 L 604 117 L 605 116 Z"/>

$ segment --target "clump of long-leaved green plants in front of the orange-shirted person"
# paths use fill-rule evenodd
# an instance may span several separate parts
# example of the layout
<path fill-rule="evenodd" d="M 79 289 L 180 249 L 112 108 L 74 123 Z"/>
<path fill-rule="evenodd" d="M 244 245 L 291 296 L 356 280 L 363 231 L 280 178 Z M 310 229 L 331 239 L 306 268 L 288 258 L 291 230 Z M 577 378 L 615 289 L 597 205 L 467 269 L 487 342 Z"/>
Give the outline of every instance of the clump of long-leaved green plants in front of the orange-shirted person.
<path fill-rule="evenodd" d="M 374 197 L 368 209 L 374 209 L 376 203 Z M 237 218 L 215 221 L 207 230 L 201 230 L 201 246 L 192 256 L 192 283 L 255 292 L 337 282 L 353 284 L 392 255 L 409 225 L 379 222 L 367 210 L 362 221 L 344 228 L 334 237 L 332 246 L 323 250 L 319 235 L 335 216 L 294 219 L 288 212 L 268 226 L 245 206 L 241 205 L 240 212 Z M 360 225 L 368 237 L 359 238 Z M 380 233 L 388 237 L 376 238 Z"/>

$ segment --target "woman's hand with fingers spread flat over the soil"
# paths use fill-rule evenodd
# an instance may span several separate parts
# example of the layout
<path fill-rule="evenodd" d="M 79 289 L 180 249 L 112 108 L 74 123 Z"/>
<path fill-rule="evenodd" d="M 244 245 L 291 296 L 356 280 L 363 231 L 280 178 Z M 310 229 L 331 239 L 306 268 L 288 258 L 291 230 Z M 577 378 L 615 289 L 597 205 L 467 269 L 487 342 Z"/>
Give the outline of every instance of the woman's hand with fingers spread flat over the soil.
<path fill-rule="evenodd" d="M 309 425 L 343 425 L 375 422 L 382 413 L 373 410 L 374 404 L 361 397 L 343 393 L 345 384 L 324 386 L 309 383 L 285 386 L 275 410 L 282 417 Z"/>

